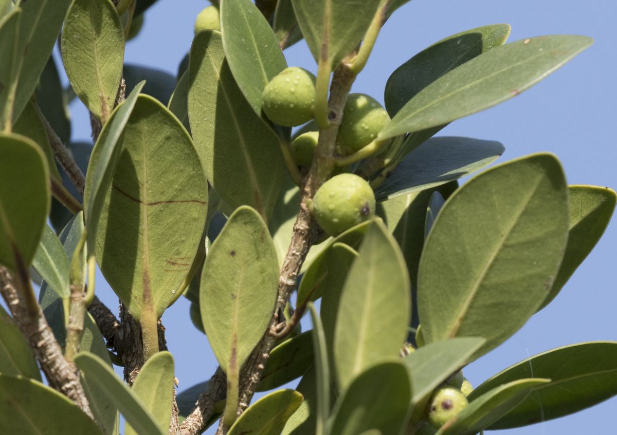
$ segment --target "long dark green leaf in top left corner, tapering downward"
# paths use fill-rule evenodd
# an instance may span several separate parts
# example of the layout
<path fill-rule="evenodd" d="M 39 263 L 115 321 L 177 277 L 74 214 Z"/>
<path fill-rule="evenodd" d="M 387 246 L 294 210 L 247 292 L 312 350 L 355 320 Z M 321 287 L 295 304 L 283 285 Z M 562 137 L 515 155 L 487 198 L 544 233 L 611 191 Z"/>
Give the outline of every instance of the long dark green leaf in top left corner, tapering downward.
<path fill-rule="evenodd" d="M 54 49 L 70 0 L 28 0 L 19 2 L 19 83 L 14 115 L 19 116 L 35 91 L 39 76 Z"/>

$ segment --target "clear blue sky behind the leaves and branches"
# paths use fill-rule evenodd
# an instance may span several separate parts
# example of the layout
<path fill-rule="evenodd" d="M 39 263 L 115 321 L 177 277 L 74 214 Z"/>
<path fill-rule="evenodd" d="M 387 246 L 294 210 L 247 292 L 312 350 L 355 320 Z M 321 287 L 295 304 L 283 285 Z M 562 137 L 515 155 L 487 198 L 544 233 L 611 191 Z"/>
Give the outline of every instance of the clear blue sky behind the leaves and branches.
<path fill-rule="evenodd" d="M 146 13 L 138 38 L 126 46 L 125 60 L 160 68 L 175 75 L 191 46 L 193 22 L 208 2 L 159 0 Z M 353 92 L 383 102 L 388 76 L 426 46 L 459 31 L 493 23 L 510 23 L 510 41 L 530 36 L 570 33 L 591 36 L 595 44 L 557 73 L 505 104 L 450 124 L 440 134 L 502 142 L 499 161 L 550 151 L 563 163 L 569 184 L 617 187 L 617 148 L 609 128 L 617 122 L 617 2 L 580 0 L 413 0 L 387 22 L 365 71 Z M 304 42 L 288 51 L 289 65 L 316 71 Z M 89 121 L 81 102 L 71 105 L 73 140 L 88 140 Z M 466 368 L 474 386 L 510 364 L 547 349 L 580 341 L 617 336 L 617 222 L 549 307 L 507 343 Z M 111 307 L 117 299 L 102 279 L 97 293 Z M 176 361 L 180 391 L 203 381 L 217 363 L 207 339 L 188 317 L 181 298 L 165 312 L 167 340 Z M 614 433 L 617 399 L 576 415 L 495 434 Z M 209 432 L 210 433 L 210 432 Z M 212 432 L 213 433 L 213 432 Z"/>

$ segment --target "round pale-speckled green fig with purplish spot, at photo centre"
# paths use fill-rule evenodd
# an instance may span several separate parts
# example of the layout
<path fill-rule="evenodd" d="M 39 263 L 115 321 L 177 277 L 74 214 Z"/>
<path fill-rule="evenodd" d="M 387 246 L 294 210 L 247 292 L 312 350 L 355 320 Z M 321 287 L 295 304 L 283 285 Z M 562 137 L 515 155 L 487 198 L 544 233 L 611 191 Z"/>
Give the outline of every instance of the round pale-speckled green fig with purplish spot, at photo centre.
<path fill-rule="evenodd" d="M 375 215 L 375 193 L 355 174 L 339 174 L 315 193 L 309 209 L 329 235 L 338 235 Z"/>

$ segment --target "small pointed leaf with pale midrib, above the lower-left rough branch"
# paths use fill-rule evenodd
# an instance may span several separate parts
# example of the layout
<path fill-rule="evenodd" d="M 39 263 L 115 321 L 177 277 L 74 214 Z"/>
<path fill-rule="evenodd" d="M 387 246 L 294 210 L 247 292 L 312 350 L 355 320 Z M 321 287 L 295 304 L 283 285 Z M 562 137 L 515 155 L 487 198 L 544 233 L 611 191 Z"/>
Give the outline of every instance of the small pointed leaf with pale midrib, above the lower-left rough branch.
<path fill-rule="evenodd" d="M 44 226 L 43 235 L 36 249 L 32 266 L 41 274 L 46 283 L 62 299 L 68 299 L 71 290 L 68 287 L 68 258 L 62 243 L 58 240 L 54 230 Z"/>

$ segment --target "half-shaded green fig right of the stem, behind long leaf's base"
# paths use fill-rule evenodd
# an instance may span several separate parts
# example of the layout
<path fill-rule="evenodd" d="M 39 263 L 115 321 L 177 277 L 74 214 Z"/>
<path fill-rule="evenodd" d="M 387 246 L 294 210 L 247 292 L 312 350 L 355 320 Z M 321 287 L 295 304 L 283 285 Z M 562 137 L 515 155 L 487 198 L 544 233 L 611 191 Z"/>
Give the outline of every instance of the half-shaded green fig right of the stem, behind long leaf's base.
<path fill-rule="evenodd" d="M 386 109 L 366 94 L 349 94 L 336 137 L 339 153 L 354 153 L 370 144 L 390 121 Z"/>

